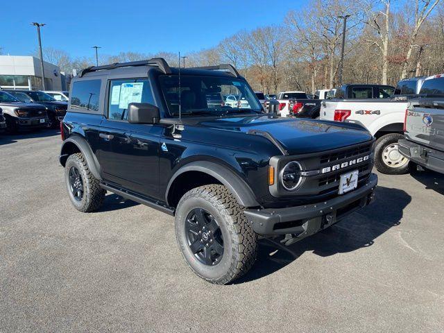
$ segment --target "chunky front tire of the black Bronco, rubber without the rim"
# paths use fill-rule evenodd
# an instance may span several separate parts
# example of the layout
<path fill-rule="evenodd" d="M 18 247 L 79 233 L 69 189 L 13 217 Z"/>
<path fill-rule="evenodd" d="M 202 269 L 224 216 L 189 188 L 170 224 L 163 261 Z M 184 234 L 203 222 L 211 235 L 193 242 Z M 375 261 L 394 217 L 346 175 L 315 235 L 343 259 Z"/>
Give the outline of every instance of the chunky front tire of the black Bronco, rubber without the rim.
<path fill-rule="evenodd" d="M 223 256 L 215 266 L 205 265 L 191 252 L 185 220 L 191 210 L 202 208 L 212 214 L 223 235 Z M 257 256 L 257 235 L 248 224 L 244 207 L 223 185 L 205 185 L 188 191 L 176 210 L 176 238 L 188 266 L 200 278 L 214 284 L 228 284 L 253 266 Z"/>

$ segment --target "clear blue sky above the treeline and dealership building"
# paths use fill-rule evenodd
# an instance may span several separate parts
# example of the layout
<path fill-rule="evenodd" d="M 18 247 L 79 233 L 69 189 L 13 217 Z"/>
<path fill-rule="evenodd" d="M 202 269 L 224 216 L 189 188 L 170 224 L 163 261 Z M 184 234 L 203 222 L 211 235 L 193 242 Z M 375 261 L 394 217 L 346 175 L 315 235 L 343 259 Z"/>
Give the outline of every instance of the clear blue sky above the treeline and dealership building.
<path fill-rule="evenodd" d="M 289 9 L 304 0 L 108 0 L 3 1 L 0 47 L 21 56 L 37 46 L 31 22 L 46 23 L 43 46 L 63 49 L 71 56 L 120 51 L 187 53 L 216 45 L 242 29 L 278 24 Z"/>

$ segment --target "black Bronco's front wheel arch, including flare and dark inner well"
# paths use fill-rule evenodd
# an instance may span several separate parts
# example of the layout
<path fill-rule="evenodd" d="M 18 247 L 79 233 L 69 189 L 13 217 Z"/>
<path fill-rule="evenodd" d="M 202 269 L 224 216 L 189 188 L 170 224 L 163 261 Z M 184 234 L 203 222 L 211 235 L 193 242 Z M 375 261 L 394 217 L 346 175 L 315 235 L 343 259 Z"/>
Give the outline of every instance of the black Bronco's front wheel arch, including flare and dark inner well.
<path fill-rule="evenodd" d="M 227 187 L 239 205 L 244 207 L 259 206 L 253 191 L 245 180 L 227 167 L 208 161 L 190 162 L 178 169 L 169 180 L 165 200 L 169 206 L 176 207 L 180 197 L 187 191 L 209 184 L 221 184 Z"/>

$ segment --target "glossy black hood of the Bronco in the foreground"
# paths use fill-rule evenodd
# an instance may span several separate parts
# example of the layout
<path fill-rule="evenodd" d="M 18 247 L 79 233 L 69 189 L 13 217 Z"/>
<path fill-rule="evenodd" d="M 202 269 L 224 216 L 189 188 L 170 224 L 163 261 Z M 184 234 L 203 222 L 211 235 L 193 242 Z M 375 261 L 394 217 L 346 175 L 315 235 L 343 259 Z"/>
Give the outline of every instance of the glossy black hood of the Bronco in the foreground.
<path fill-rule="evenodd" d="M 360 126 L 334 121 L 273 118 L 266 114 L 200 120 L 192 125 L 235 133 L 266 131 L 277 139 L 290 155 L 327 151 L 372 139 L 372 135 Z"/>

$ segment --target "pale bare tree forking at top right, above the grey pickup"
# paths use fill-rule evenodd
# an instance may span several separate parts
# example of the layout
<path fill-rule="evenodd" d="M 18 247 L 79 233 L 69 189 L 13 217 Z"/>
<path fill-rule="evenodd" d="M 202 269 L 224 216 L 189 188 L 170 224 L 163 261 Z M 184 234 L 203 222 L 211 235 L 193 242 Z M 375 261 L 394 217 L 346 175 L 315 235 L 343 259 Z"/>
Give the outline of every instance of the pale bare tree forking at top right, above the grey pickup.
<path fill-rule="evenodd" d="M 416 37 L 425 19 L 430 15 L 432 10 L 438 5 L 441 0 L 416 0 L 415 1 L 415 19 L 413 22 L 413 31 L 409 39 L 409 48 L 407 49 L 407 55 L 405 56 L 404 66 L 402 67 L 401 78 L 407 77 L 407 71 L 409 70 L 411 54 L 415 47 Z"/>

